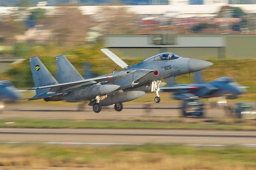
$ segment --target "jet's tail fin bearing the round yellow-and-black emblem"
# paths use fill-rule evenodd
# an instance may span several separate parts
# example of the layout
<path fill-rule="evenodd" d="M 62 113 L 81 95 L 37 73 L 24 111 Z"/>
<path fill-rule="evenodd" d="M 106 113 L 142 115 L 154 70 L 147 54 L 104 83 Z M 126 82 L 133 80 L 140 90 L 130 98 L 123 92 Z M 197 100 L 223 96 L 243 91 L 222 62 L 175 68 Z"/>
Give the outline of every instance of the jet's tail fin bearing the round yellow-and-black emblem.
<path fill-rule="evenodd" d="M 29 58 L 29 62 L 35 87 L 59 84 L 38 56 Z M 50 88 L 36 89 L 36 94 L 44 94 L 49 90 Z"/>

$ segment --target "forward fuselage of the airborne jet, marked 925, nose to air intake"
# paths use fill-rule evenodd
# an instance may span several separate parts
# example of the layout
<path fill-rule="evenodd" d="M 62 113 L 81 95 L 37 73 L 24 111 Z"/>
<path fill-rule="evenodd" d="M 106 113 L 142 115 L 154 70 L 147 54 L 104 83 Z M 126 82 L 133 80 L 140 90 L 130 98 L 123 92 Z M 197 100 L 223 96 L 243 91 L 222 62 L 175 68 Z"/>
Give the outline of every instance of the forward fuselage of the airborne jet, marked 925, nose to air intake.
<path fill-rule="evenodd" d="M 143 62 L 138 63 L 124 70 L 135 71 L 134 73 L 127 75 L 123 78 L 120 78 L 114 82 L 110 81 L 108 82 L 108 84 L 117 84 L 120 85 L 120 88 L 123 89 L 131 87 L 140 87 L 147 84 L 150 85 L 152 81 L 192 73 L 212 65 L 212 63 L 207 61 L 183 58 L 176 54 L 175 57 L 176 58 L 169 60 L 157 60 L 158 58 L 155 56 L 148 58 Z M 145 74 L 147 73 L 147 71 L 144 70 L 154 71 Z"/>

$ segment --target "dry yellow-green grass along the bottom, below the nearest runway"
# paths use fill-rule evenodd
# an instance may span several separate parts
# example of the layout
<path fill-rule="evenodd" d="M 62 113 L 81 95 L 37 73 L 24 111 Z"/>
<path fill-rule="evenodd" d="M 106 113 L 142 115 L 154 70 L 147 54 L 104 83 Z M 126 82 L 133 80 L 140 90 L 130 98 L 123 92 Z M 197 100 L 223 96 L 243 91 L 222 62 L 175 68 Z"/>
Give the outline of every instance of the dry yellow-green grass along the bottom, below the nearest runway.
<path fill-rule="evenodd" d="M 234 170 L 256 168 L 253 148 L 195 148 L 144 145 L 74 148 L 49 145 L 0 145 L 4 169 L 169 169 Z"/>

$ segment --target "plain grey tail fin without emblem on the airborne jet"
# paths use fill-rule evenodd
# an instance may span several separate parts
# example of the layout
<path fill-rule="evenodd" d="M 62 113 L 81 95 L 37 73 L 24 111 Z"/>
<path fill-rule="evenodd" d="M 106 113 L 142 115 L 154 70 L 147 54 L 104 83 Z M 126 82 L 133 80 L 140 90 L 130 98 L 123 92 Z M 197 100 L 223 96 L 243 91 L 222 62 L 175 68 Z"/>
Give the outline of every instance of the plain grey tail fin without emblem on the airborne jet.
<path fill-rule="evenodd" d="M 70 61 L 64 55 L 56 56 L 55 58 L 58 65 L 57 74 L 60 83 L 84 80 L 81 74 L 76 70 L 76 68 L 70 63 Z"/>

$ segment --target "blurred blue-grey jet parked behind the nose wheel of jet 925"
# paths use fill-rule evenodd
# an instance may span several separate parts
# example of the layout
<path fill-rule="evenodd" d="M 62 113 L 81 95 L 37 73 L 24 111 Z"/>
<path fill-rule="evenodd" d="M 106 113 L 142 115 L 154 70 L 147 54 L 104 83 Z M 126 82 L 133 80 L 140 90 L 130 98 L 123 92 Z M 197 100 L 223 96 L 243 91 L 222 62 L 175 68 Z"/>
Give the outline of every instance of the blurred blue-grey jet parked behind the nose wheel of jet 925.
<path fill-rule="evenodd" d="M 177 100 L 186 100 L 189 98 L 213 98 L 226 97 L 227 99 L 236 99 L 245 92 L 244 86 L 241 86 L 231 77 L 220 77 L 212 82 L 203 83 L 201 73 L 195 73 L 196 84 L 178 84 L 170 87 L 160 88 L 161 92 L 173 92 L 173 98 Z M 173 84 L 173 80 L 170 81 Z"/>

